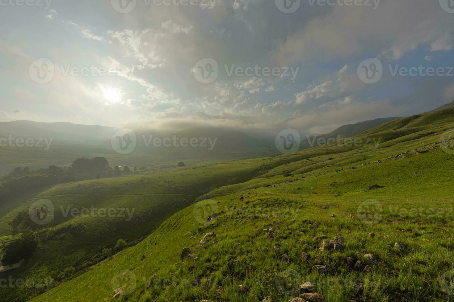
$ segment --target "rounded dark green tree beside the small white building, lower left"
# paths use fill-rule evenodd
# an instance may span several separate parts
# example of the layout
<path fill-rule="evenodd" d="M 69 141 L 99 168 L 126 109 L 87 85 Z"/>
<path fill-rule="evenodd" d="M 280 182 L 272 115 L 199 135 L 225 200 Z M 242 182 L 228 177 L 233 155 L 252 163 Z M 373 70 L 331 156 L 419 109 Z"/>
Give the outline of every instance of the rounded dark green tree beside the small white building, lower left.
<path fill-rule="evenodd" d="M 2 263 L 4 265 L 15 264 L 20 260 L 30 259 L 38 248 L 38 237 L 30 230 L 26 230 L 19 237 L 6 244 L 3 251 Z"/>

